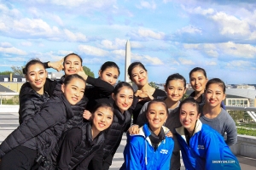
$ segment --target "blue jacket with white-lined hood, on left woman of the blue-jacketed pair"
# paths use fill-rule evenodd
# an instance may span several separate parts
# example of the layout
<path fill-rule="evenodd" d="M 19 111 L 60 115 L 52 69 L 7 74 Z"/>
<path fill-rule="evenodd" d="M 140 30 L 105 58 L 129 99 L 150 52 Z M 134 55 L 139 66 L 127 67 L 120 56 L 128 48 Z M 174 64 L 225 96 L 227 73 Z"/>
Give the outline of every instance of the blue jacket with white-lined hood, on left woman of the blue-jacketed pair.
<path fill-rule="evenodd" d="M 169 132 L 167 127 L 163 127 L 163 129 L 165 133 Z M 127 144 L 124 150 L 125 162 L 120 170 L 167 170 L 170 168 L 174 147 L 173 139 L 166 137 L 154 151 L 148 137 L 150 134 L 148 124 L 140 127 L 138 134 L 127 133 Z"/>

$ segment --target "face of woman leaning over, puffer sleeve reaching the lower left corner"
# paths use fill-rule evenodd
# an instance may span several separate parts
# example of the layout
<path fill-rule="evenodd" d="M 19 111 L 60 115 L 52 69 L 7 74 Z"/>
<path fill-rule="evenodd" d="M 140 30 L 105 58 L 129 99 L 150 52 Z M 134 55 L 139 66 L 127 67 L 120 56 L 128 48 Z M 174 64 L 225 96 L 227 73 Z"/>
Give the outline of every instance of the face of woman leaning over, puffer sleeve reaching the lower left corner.
<path fill-rule="evenodd" d="M 85 82 L 79 78 L 73 78 L 67 85 L 62 84 L 61 90 L 71 105 L 76 105 L 84 96 Z"/>

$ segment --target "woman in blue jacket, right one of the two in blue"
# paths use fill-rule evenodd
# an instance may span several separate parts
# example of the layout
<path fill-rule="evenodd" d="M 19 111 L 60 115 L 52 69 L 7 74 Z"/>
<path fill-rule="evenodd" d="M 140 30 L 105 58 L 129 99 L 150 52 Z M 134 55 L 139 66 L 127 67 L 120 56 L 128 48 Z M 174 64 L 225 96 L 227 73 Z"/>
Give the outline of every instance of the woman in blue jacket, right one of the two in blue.
<path fill-rule="evenodd" d="M 202 124 L 199 117 L 199 105 L 195 99 L 184 99 L 179 105 L 179 119 L 183 126 L 176 131 L 186 169 L 241 169 L 224 138 L 212 127 Z"/>

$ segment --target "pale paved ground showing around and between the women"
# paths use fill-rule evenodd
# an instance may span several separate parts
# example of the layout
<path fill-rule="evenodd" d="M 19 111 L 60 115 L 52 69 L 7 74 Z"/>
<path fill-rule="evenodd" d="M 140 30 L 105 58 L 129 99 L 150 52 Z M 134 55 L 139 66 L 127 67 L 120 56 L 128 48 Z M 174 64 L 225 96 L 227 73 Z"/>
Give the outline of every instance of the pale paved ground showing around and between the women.
<path fill-rule="evenodd" d="M 19 126 L 19 120 L 18 120 L 19 116 L 17 113 L 18 110 L 17 108 L 14 108 L 14 110 L 15 112 L 4 111 L 3 108 L 0 107 L 0 143 L 3 142 L 3 140 L 9 135 L 9 133 L 11 133 L 13 130 L 15 130 L 16 127 Z M 111 170 L 118 170 L 119 167 L 121 167 L 121 165 L 123 164 L 124 162 L 123 150 L 125 148 L 125 144 L 126 144 L 126 137 L 124 134 L 121 144 L 119 145 L 119 149 L 117 150 L 117 153 L 113 157 L 112 166 L 110 168 Z M 241 169 L 245 169 L 245 170 L 256 169 L 255 159 L 238 156 L 238 160 L 240 162 Z M 183 170 L 185 168 L 181 167 L 181 169 Z"/>

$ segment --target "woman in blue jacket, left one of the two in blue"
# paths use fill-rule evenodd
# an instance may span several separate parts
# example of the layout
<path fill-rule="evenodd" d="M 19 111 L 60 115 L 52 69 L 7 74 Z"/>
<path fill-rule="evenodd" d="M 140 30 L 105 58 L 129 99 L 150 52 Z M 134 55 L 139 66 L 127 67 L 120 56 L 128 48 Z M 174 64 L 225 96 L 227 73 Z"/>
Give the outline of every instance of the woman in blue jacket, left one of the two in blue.
<path fill-rule="evenodd" d="M 124 150 L 125 162 L 120 169 L 169 169 L 174 142 L 166 137 L 168 128 L 167 106 L 163 100 L 153 99 L 148 103 L 148 123 L 139 133 L 127 136 Z"/>

